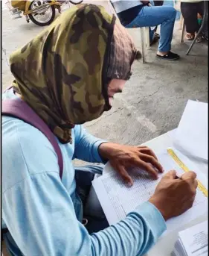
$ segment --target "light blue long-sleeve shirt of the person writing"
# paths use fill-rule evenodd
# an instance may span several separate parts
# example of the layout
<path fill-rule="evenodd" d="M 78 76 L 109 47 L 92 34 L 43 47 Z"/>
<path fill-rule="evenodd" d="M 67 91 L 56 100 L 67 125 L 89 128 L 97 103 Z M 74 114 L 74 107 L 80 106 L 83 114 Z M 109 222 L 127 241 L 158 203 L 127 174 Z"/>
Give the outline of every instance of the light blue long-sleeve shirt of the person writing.
<path fill-rule="evenodd" d="M 3 94 L 3 100 L 13 97 L 12 90 Z M 149 202 L 91 235 L 81 224 L 72 159 L 101 163 L 98 146 L 103 140 L 81 125 L 75 126 L 72 137 L 72 144 L 59 143 L 61 181 L 57 154 L 45 135 L 22 120 L 3 116 L 1 217 L 2 228 L 10 231 L 5 240 L 11 255 L 144 255 L 166 229 L 161 213 Z"/>

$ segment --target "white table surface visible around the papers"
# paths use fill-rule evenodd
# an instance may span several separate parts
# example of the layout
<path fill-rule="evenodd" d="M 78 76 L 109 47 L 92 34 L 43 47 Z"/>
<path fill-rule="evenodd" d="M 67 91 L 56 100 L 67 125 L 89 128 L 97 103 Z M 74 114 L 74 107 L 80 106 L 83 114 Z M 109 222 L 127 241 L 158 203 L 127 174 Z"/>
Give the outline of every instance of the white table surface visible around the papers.
<path fill-rule="evenodd" d="M 149 140 L 147 143 L 144 143 L 144 145 L 149 146 L 149 148 L 153 149 L 154 152 L 161 152 L 161 150 L 173 146 L 174 133 L 175 130 L 169 131 L 168 133 L 156 137 L 153 140 Z M 194 164 L 208 178 L 208 163 L 195 162 Z M 167 236 L 160 238 L 155 246 L 149 250 L 146 256 L 170 256 L 173 251 L 174 243 L 178 239 L 179 231 L 196 225 L 199 222 L 203 222 L 206 219 L 208 219 L 208 213 L 194 219 L 192 222 L 187 223 L 187 225 L 181 226 L 181 228 L 176 229 L 176 231 L 171 232 Z"/>

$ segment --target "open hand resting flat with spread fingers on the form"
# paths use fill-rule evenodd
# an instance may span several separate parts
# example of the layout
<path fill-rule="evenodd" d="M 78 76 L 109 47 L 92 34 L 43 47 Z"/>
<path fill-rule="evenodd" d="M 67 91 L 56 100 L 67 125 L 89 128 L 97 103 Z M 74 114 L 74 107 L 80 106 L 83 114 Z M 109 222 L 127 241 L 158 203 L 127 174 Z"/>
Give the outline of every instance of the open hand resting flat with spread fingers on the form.
<path fill-rule="evenodd" d="M 163 172 L 155 153 L 147 146 L 122 146 L 115 143 L 103 143 L 99 147 L 99 152 L 101 157 L 109 160 L 112 167 L 130 185 L 133 184 L 132 178 L 127 172 L 130 167 L 139 167 L 155 179 L 158 178 L 158 172 Z"/>

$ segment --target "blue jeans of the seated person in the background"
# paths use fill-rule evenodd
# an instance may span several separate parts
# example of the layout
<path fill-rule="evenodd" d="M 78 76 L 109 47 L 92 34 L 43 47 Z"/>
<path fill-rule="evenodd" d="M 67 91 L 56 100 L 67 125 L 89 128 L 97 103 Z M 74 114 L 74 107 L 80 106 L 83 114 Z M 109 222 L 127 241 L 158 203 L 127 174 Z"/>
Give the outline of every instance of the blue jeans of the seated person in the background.
<path fill-rule="evenodd" d="M 126 28 L 155 27 L 161 25 L 158 51 L 170 51 L 176 9 L 171 6 L 145 6 Z M 152 38 L 151 32 L 150 36 Z"/>

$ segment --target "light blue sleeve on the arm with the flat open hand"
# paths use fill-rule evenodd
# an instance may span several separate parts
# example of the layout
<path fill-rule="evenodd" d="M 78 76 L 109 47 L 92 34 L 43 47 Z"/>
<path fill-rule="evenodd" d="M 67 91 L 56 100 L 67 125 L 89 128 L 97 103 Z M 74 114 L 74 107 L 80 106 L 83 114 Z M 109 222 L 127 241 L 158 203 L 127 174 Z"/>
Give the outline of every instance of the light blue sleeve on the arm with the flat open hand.
<path fill-rule="evenodd" d="M 74 158 L 84 160 L 90 163 L 104 163 L 100 157 L 98 147 L 106 140 L 98 139 L 89 134 L 83 125 L 76 125 L 74 128 L 75 149 Z"/>

